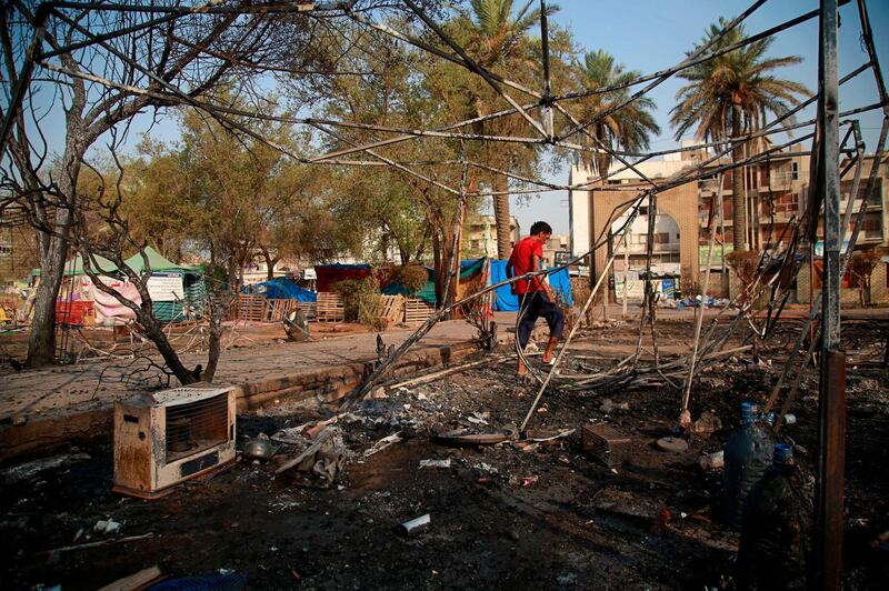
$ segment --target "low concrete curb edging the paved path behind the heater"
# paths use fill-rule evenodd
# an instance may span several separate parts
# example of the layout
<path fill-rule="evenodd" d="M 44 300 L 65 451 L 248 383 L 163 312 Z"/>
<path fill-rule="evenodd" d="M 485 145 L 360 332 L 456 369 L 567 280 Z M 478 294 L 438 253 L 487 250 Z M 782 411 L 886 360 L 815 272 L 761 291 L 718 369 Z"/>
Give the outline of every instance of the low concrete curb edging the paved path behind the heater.
<path fill-rule="evenodd" d="M 390 370 L 389 378 L 459 361 L 478 351 L 473 341 L 427 347 L 407 353 Z M 239 413 L 282 400 L 333 402 L 358 387 L 373 370 L 373 361 L 324 367 L 236 384 Z M 23 424 L 0 425 L 0 464 L 43 454 L 63 445 L 110 437 L 113 431 L 113 405 L 90 410 L 70 409 L 52 417 L 41 417 Z"/>

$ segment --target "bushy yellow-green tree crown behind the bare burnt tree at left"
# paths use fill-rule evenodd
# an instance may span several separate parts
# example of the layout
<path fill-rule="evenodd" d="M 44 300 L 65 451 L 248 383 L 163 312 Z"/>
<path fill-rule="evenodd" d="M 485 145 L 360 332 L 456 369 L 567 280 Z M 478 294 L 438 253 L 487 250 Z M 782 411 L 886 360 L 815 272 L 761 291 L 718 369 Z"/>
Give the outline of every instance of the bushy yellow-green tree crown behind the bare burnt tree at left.
<path fill-rule="evenodd" d="M 130 162 L 122 209 L 134 237 L 171 256 L 209 252 L 230 286 L 257 257 L 273 269 L 282 258 L 327 258 L 337 249 L 323 170 L 191 110 L 180 123 L 180 143 L 144 140 Z M 250 127 L 292 150 L 308 142 L 286 123 Z"/>

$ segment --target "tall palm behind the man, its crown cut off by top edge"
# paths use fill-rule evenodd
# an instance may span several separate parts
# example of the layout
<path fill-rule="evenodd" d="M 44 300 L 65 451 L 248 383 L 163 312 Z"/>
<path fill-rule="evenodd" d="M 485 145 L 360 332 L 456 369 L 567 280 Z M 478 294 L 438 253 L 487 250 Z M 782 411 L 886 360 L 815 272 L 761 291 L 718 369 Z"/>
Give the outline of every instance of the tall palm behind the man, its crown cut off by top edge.
<path fill-rule="evenodd" d="M 540 9 L 532 9 L 535 0 L 528 0 L 515 11 L 512 0 L 471 0 L 469 21 L 469 52 L 479 64 L 499 73 L 529 71 L 535 66 L 528 59 L 528 31 L 540 22 Z M 558 7 L 547 8 L 547 14 L 553 13 Z M 529 68 L 530 66 L 530 68 Z M 478 86 L 471 90 L 477 116 L 486 114 L 497 98 L 483 88 L 478 78 Z M 490 109 L 492 110 L 492 109 Z M 517 126 L 527 124 L 518 116 L 501 118 L 488 123 L 488 131 L 495 134 L 510 133 Z M 499 168 L 508 170 L 513 154 L 512 148 L 496 144 L 489 147 L 490 159 Z M 497 226 L 497 253 L 501 259 L 509 258 L 512 232 L 509 229 L 509 178 L 493 174 L 491 179 L 493 192 L 501 193 L 493 198 L 493 214 Z"/>

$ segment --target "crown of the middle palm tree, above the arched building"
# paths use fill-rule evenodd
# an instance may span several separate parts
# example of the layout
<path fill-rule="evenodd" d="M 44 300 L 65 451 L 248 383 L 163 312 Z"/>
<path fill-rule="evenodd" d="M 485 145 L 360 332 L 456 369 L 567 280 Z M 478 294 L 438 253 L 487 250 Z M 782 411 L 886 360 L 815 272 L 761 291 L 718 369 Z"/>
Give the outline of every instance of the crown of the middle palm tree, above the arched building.
<path fill-rule="evenodd" d="M 617 63 L 615 57 L 605 50 L 590 51 L 583 56 L 583 62 L 575 63 L 576 83 L 586 90 L 622 84 L 639 78 L 640 72 L 628 71 L 622 63 Z M 583 146 L 598 148 L 622 148 L 625 150 L 646 150 L 649 147 L 649 134 L 660 133 L 660 127 L 655 122 L 652 111 L 655 102 L 649 98 L 640 98 L 618 109 L 613 113 L 598 119 L 599 113 L 610 111 L 615 104 L 622 103 L 629 94 L 625 88 L 602 94 L 586 97 L 577 102 L 575 117 L 582 122 L 596 121 L 589 126 L 586 133 L 581 133 L 579 141 Z M 595 140 L 592 139 L 595 138 Z M 587 169 L 593 169 L 598 174 L 606 174 L 611 166 L 611 156 L 591 152 L 581 152 L 581 160 Z"/>

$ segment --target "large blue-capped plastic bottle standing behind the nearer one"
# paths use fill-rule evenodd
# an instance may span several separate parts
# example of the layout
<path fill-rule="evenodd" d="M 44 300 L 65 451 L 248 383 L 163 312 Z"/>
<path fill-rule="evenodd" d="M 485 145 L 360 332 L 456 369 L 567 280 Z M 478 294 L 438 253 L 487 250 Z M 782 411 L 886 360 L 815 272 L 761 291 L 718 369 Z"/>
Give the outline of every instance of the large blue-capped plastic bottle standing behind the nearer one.
<path fill-rule="evenodd" d="M 772 444 L 759 421 L 759 408 L 741 402 L 741 427 L 726 443 L 722 471 L 722 519 L 729 525 L 741 525 L 741 509 L 750 489 L 771 464 Z"/>

